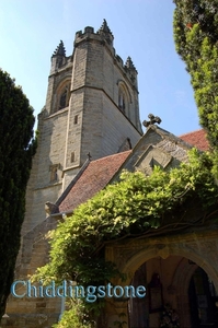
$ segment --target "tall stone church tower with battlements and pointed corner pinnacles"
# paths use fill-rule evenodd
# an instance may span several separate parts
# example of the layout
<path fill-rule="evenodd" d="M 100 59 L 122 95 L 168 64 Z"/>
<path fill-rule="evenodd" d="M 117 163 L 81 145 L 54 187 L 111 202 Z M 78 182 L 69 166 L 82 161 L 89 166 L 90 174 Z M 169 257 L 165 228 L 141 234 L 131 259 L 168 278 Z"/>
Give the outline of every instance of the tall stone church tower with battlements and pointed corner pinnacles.
<path fill-rule="evenodd" d="M 137 70 L 116 55 L 113 34 L 77 32 L 71 56 L 64 43 L 51 56 L 46 105 L 38 115 L 38 149 L 27 187 L 23 234 L 45 219 L 85 162 L 129 149 L 141 136 Z"/>

